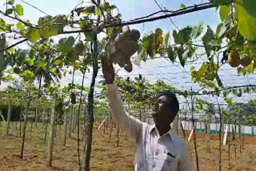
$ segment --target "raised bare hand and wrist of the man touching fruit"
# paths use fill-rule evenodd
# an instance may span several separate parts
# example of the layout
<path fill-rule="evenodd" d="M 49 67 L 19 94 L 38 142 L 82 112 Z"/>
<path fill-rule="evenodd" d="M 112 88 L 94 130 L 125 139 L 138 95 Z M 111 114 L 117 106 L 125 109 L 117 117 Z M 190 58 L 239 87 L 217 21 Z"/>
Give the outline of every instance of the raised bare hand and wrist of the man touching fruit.
<path fill-rule="evenodd" d="M 107 84 L 112 84 L 114 82 L 114 67 L 112 62 L 110 62 L 106 56 L 101 58 L 102 60 L 102 73 L 106 79 Z"/>

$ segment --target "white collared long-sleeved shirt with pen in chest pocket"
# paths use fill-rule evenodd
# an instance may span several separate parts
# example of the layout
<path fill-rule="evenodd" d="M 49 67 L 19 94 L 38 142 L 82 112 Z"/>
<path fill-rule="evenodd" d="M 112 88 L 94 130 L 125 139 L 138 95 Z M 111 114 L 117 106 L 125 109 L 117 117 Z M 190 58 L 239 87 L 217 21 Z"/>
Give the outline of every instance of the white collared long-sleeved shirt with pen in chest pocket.
<path fill-rule="evenodd" d="M 137 144 L 135 171 L 191 171 L 185 141 L 171 130 L 160 136 L 155 125 L 128 116 L 116 85 L 113 83 L 108 87 L 109 104 L 115 119 Z"/>

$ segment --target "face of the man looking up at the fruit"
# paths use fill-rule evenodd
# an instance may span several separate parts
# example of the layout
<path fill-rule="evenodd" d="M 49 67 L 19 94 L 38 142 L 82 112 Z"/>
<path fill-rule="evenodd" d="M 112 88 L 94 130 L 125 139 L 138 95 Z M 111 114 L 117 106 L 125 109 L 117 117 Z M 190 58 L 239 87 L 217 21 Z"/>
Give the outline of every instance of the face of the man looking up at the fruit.
<path fill-rule="evenodd" d="M 166 102 L 166 96 L 160 96 L 155 100 L 154 114 L 152 114 L 152 117 L 156 125 L 169 126 L 171 122 L 174 121 L 175 114 L 173 110 L 170 109 L 170 106 L 166 105 Z"/>

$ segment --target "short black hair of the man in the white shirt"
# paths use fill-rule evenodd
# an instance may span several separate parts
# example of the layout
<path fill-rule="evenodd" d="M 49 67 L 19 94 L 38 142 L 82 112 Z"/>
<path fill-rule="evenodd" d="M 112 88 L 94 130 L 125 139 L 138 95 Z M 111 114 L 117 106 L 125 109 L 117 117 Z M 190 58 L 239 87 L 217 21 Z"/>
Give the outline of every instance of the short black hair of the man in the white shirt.
<path fill-rule="evenodd" d="M 169 90 L 164 89 L 157 94 L 156 98 L 161 96 L 166 97 L 166 107 L 173 110 L 173 112 L 177 114 L 179 109 L 179 103 L 176 95 Z"/>

